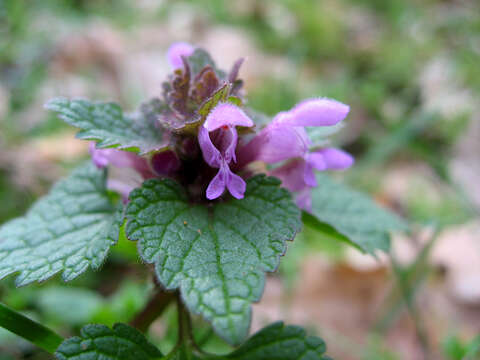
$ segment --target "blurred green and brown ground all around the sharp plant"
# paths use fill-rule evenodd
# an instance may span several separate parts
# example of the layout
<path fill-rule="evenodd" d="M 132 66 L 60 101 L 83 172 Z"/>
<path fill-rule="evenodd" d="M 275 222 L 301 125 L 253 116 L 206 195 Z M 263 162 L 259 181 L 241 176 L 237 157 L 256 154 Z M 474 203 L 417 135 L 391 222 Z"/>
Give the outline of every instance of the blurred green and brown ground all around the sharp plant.
<path fill-rule="evenodd" d="M 160 94 L 174 41 L 206 48 L 226 69 L 246 57 L 249 104 L 269 115 L 306 97 L 349 104 L 335 142 L 357 163 L 343 181 L 412 224 L 379 259 L 305 229 L 269 280 L 254 328 L 281 318 L 300 323 L 338 359 L 476 358 L 475 0 L 0 0 L 0 223 L 87 157 L 86 144 L 43 104 L 80 96 L 133 110 Z M 102 272 L 68 285 L 53 279 L 14 290 L 4 280 L 1 301 L 65 335 L 86 322 L 125 322 L 150 290 L 138 263 L 124 242 Z M 150 334 L 166 348 L 171 318 Z M 46 358 L 0 332 L 1 360 Z"/>

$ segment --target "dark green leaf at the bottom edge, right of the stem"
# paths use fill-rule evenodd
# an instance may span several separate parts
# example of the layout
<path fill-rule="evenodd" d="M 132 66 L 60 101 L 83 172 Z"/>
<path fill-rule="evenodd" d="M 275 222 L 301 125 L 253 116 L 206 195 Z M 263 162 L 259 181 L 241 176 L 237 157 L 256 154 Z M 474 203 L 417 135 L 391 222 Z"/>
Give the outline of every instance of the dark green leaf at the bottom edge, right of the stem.
<path fill-rule="evenodd" d="M 298 326 L 276 322 L 260 330 L 236 351 L 231 360 L 327 360 L 325 342 L 307 336 Z"/>

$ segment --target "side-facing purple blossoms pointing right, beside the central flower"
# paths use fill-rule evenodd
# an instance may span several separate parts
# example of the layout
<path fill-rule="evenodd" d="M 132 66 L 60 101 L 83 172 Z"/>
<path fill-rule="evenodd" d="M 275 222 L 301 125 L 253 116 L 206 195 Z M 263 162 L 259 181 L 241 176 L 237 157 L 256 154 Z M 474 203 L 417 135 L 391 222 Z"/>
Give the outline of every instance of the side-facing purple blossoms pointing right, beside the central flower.
<path fill-rule="evenodd" d="M 268 164 L 290 160 L 270 172 L 290 191 L 299 192 L 297 203 L 310 210 L 309 189 L 317 186 L 314 170 L 343 170 L 354 160 L 346 152 L 323 148 L 310 151 L 310 141 L 304 127 L 332 126 L 342 121 L 350 108 L 331 99 L 309 99 L 293 109 L 281 112 L 273 121 L 239 151 L 239 163 L 244 166 L 252 161 Z"/>

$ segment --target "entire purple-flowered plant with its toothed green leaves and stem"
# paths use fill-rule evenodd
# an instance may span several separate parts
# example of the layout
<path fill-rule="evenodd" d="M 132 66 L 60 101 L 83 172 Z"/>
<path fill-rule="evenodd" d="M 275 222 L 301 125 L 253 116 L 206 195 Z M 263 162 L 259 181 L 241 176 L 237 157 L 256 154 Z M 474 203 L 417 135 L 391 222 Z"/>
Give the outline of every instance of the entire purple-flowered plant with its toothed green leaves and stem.
<path fill-rule="evenodd" d="M 328 140 L 349 106 L 312 98 L 270 121 L 248 107 L 243 59 L 224 72 L 204 50 L 177 43 L 168 60 L 173 72 L 162 93 L 134 113 L 113 103 L 50 101 L 48 109 L 91 141 L 91 161 L 0 228 L 0 277 L 18 273 L 18 285 L 57 273 L 70 281 L 99 269 L 119 239 L 135 241 L 152 265 L 151 300 L 130 326 L 86 325 L 67 340 L 3 305 L 0 325 L 62 360 L 326 359 L 323 341 L 295 326 L 275 323 L 246 337 L 265 273 L 277 269 L 302 221 L 369 253 L 387 251 L 389 232 L 404 227 L 322 174 L 354 162 Z M 163 356 L 142 333 L 170 302 L 178 340 Z M 191 314 L 239 347 L 206 354 Z"/>

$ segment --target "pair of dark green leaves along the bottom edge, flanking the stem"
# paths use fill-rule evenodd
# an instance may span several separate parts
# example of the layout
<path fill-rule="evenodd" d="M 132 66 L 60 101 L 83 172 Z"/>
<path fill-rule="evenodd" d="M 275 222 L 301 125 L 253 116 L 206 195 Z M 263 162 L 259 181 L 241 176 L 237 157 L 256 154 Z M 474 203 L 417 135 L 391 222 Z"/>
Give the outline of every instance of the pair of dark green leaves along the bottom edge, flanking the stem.
<path fill-rule="evenodd" d="M 285 326 L 276 322 L 254 334 L 238 349 L 228 355 L 198 354 L 196 350 L 179 342 L 170 354 L 162 357 L 169 360 L 328 360 L 325 342 L 307 336 L 298 326 Z M 116 324 L 113 330 L 104 325 L 87 325 L 79 337 L 65 340 L 55 353 L 59 360 L 96 360 L 108 356 L 111 360 L 157 359 L 161 356 L 137 330 Z"/>

